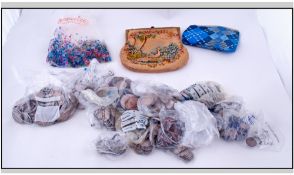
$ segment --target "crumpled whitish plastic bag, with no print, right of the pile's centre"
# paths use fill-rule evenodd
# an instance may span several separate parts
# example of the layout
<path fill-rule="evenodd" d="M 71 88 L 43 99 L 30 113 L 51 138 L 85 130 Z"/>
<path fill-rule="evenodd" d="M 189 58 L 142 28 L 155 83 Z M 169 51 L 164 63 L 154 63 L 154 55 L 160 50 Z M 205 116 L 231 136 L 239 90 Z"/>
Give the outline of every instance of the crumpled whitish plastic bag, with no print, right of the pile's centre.
<path fill-rule="evenodd" d="M 207 107 L 197 101 L 184 101 L 175 104 L 180 119 L 185 122 L 185 134 L 181 144 L 198 148 L 206 146 L 219 137 L 216 120 Z"/>

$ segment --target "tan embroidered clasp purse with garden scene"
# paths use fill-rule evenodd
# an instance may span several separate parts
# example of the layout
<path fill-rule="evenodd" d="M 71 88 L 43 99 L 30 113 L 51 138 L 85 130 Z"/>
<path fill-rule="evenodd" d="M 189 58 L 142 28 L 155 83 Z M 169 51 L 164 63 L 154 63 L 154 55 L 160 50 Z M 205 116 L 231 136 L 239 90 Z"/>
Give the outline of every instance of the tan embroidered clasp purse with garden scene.
<path fill-rule="evenodd" d="M 120 57 L 133 71 L 167 72 L 187 64 L 188 51 L 181 42 L 179 27 L 128 29 Z"/>

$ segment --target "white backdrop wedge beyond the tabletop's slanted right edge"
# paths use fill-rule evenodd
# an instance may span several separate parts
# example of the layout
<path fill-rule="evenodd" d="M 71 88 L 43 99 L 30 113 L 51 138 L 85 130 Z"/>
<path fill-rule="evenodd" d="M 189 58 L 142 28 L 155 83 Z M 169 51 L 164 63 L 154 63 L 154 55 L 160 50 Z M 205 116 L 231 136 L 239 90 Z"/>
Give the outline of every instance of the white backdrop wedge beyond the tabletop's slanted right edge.
<path fill-rule="evenodd" d="M 259 9 L 257 17 L 265 32 L 272 59 L 287 90 L 292 97 L 292 10 Z M 291 22 L 292 21 L 292 22 Z"/>

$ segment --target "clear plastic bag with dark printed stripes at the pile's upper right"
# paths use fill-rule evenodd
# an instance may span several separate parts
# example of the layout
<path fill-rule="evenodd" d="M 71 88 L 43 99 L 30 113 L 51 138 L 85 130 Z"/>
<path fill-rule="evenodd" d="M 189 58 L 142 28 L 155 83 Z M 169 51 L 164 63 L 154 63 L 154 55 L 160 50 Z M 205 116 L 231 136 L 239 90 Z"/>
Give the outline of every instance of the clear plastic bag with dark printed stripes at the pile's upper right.
<path fill-rule="evenodd" d="M 208 108 L 226 98 L 225 91 L 221 85 L 212 81 L 195 83 L 182 90 L 180 94 L 179 100 L 196 100 L 204 103 Z"/>

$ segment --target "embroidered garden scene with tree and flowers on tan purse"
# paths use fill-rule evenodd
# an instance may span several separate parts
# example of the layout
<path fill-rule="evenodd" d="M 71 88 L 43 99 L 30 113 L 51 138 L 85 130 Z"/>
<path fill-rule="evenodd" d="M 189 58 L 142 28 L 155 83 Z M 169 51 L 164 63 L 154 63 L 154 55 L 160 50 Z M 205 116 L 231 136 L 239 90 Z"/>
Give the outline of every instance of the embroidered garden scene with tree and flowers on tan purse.
<path fill-rule="evenodd" d="M 183 53 L 183 46 L 175 42 L 171 42 L 167 46 L 158 46 L 144 51 L 144 47 L 151 40 L 169 40 L 173 37 L 179 38 L 176 32 L 166 29 L 151 29 L 142 30 L 129 34 L 126 42 L 125 52 L 127 59 L 134 64 L 147 65 L 156 67 L 174 62 L 180 58 Z"/>

